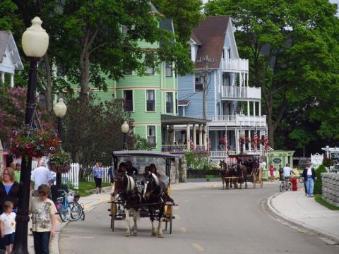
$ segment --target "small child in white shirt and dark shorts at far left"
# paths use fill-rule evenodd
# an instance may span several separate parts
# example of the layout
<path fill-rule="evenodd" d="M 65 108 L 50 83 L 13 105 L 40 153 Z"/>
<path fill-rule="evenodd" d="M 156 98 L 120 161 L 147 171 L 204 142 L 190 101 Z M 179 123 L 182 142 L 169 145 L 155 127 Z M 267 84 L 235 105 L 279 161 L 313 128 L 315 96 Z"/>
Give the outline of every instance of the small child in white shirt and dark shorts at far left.
<path fill-rule="evenodd" d="M 4 213 L 0 215 L 0 231 L 6 245 L 6 253 L 9 254 L 12 252 L 16 234 L 16 213 L 13 212 L 11 201 L 4 202 Z"/>

